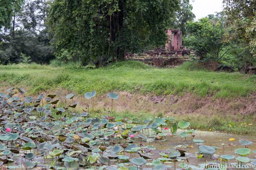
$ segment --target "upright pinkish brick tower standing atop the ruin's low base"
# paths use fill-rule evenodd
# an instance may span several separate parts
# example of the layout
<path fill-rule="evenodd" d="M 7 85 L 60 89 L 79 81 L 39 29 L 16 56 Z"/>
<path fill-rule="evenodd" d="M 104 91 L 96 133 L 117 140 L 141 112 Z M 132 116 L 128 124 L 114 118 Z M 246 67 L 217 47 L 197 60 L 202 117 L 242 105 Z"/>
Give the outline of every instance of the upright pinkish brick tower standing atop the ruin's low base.
<path fill-rule="evenodd" d="M 166 51 L 177 51 L 182 46 L 182 31 L 178 29 L 167 29 L 168 43 L 165 44 Z"/>

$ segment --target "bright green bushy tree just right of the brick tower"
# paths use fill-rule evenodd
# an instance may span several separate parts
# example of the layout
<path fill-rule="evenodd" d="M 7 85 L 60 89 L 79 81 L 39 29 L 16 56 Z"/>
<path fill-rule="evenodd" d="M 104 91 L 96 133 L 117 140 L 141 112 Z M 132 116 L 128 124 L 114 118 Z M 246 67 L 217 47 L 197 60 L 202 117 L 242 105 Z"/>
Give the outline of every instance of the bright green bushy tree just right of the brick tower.
<path fill-rule="evenodd" d="M 196 51 L 200 60 L 210 62 L 214 69 L 223 55 L 220 55 L 223 47 L 223 24 L 219 20 L 206 17 L 197 22 L 188 22 L 188 37 L 184 39 L 184 44 Z"/>

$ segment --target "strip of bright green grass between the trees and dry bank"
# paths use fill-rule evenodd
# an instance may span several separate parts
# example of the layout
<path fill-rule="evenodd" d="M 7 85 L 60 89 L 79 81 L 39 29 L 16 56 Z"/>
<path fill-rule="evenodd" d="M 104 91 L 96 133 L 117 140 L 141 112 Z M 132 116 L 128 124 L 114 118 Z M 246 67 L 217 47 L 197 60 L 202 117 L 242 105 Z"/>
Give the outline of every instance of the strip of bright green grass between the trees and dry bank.
<path fill-rule="evenodd" d="M 0 66 L 0 82 L 22 86 L 31 94 L 50 88 L 66 88 L 78 94 L 96 90 L 131 93 L 180 94 L 192 92 L 201 97 L 233 98 L 256 90 L 256 76 L 206 71 L 188 62 L 174 69 L 152 68 L 135 61 L 109 64 L 104 68 L 17 64 Z"/>

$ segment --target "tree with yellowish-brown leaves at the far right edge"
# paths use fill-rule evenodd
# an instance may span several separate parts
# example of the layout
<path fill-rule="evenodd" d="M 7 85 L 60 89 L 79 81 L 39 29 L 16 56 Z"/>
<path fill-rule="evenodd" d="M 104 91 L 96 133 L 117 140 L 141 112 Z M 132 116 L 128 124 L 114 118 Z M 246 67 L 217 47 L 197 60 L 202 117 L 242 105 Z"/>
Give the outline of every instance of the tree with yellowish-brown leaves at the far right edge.
<path fill-rule="evenodd" d="M 246 55 L 244 65 L 256 63 L 256 1 L 255 0 L 223 0 L 224 12 L 227 16 L 226 41 L 239 44 Z"/>

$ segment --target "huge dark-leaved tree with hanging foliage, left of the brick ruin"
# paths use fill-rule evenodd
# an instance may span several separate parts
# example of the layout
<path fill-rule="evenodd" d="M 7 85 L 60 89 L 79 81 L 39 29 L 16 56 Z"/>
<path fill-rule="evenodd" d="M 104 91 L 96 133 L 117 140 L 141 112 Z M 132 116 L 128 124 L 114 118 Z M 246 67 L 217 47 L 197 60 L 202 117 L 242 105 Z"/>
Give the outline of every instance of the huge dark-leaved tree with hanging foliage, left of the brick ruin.
<path fill-rule="evenodd" d="M 179 0 L 55 0 L 49 24 L 56 55 L 69 51 L 83 63 L 124 59 L 167 37 Z"/>

